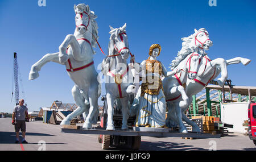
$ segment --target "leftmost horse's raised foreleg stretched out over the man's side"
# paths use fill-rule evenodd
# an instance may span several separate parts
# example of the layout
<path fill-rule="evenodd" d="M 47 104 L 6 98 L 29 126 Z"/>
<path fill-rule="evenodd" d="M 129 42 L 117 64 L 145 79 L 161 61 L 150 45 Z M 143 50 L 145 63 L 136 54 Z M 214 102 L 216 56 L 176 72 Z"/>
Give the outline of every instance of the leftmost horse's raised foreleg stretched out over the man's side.
<path fill-rule="evenodd" d="M 46 63 L 53 61 L 55 63 L 59 63 L 59 52 L 57 53 L 48 53 L 42 57 L 38 62 L 36 62 L 34 65 L 32 65 L 30 74 L 28 76 L 28 80 L 34 80 L 39 77 L 39 71 L 45 65 Z"/>

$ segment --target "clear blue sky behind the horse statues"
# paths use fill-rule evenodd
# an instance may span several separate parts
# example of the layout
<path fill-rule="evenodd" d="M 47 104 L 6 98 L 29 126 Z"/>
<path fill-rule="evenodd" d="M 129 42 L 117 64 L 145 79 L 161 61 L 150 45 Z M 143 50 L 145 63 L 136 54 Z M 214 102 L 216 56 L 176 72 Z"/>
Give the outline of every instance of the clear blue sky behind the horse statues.
<path fill-rule="evenodd" d="M 98 16 L 98 41 L 105 53 L 108 51 L 109 25 L 117 28 L 127 23 L 129 46 L 135 59 L 138 62 L 147 59 L 150 45 L 159 43 L 162 52 L 158 60 L 168 68 L 181 49 L 181 38 L 193 34 L 194 28 L 198 30 L 204 27 L 213 41 L 213 46 L 207 52 L 211 59 L 241 56 L 252 60 L 246 67 L 242 64 L 228 67 L 228 78 L 232 84 L 256 86 L 256 1 L 216 1 L 217 6 L 210 7 L 209 0 L 46 0 L 46 7 L 39 7 L 38 0 L 1 0 L 0 111 L 11 112 L 15 105 L 14 99 L 10 102 L 13 52 L 18 53 L 29 111 L 51 106 L 55 100 L 75 103 L 71 94 L 73 81 L 63 65 L 46 64 L 39 73 L 40 77 L 32 81 L 28 81 L 28 73 L 31 65 L 47 53 L 58 52 L 65 36 L 73 34 L 73 6 L 79 3 L 89 5 Z M 98 65 L 105 56 L 98 47 L 94 50 L 94 63 Z M 102 87 L 104 94 L 105 89 Z M 99 102 L 99 105 L 102 103 Z"/>

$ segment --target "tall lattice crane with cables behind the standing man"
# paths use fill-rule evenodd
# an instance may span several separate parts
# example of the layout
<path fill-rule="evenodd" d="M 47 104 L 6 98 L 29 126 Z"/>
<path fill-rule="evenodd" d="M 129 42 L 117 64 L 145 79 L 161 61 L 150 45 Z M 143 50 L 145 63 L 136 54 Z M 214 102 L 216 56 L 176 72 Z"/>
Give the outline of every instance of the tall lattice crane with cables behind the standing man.
<path fill-rule="evenodd" d="M 19 73 L 18 59 L 17 59 L 16 52 L 14 52 L 13 73 L 14 73 L 13 74 L 13 84 L 15 86 L 15 103 L 16 103 L 16 105 L 19 105 L 19 81 L 20 81 L 20 84 L 22 85 L 22 80 L 21 80 L 20 73 Z M 22 86 L 22 93 L 23 93 L 23 97 L 24 97 L 25 95 L 24 95 L 23 86 Z M 11 101 L 13 100 L 13 94 L 14 94 L 14 92 L 12 92 Z"/>

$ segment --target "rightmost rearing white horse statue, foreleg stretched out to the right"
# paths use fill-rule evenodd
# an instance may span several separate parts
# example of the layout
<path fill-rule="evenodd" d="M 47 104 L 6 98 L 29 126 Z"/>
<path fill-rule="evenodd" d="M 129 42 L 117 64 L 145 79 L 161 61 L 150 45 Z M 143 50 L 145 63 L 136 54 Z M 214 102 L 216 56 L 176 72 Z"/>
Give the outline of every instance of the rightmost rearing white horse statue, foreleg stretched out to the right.
<path fill-rule="evenodd" d="M 193 51 L 194 49 L 197 49 L 200 53 L 203 53 L 204 57 L 200 61 L 200 64 L 199 64 L 200 67 L 197 72 L 196 78 L 194 78 L 193 80 L 187 80 L 186 84 L 184 84 L 186 94 L 189 97 L 189 102 L 187 106 L 180 107 L 181 112 L 184 112 L 185 110 L 188 109 L 188 106 L 191 104 L 193 100 L 192 95 L 195 95 L 199 93 L 201 90 L 203 90 L 205 86 L 207 86 L 207 84 L 211 80 L 216 78 L 220 73 L 221 73 L 221 78 L 218 78 L 217 80 L 218 84 L 220 86 L 223 86 L 225 84 L 226 78 L 228 78 L 228 72 L 226 69 L 227 65 L 238 64 L 238 63 L 247 65 L 251 61 L 249 59 L 245 59 L 242 57 L 236 57 L 230 60 L 224 60 L 222 58 L 210 60 L 209 57 L 207 56 L 207 53 L 204 53 L 204 49 L 208 50 L 209 47 L 212 46 L 212 43 L 207 44 L 207 41 L 205 42 L 200 41 L 201 37 L 209 38 L 209 34 L 204 28 L 201 28 L 199 31 L 195 30 L 195 34 L 189 36 L 188 38 L 183 38 L 184 40 L 183 44 L 185 45 L 183 48 L 184 52 Z M 199 41 L 199 44 L 196 43 L 197 41 Z M 201 42 L 204 42 L 204 43 L 201 43 Z M 172 68 L 174 67 L 175 65 L 172 64 Z M 180 94 L 177 94 L 177 95 L 180 95 Z M 179 98 L 175 98 L 174 101 L 172 102 L 174 103 L 179 102 Z M 170 103 L 167 102 L 167 106 L 170 106 Z M 180 119 L 180 114 L 176 113 L 176 111 L 174 110 L 174 107 L 170 106 L 168 108 L 169 108 L 168 109 L 169 112 L 168 112 L 168 117 L 166 119 L 166 123 L 170 127 L 175 127 L 177 124 L 180 124 L 180 122 L 182 122 Z M 196 132 L 200 131 L 200 128 L 197 126 L 195 122 L 192 122 L 191 120 L 189 120 L 184 113 L 181 113 L 181 115 L 182 115 L 183 121 L 185 121 L 186 123 L 192 126 L 192 131 L 196 131 Z"/>

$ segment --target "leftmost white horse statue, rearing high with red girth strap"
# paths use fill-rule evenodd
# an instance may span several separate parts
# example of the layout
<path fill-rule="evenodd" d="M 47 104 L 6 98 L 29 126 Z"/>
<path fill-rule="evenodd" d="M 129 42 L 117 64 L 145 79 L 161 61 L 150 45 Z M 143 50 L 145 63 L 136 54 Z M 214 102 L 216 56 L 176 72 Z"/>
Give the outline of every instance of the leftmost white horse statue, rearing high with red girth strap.
<path fill-rule="evenodd" d="M 94 51 L 98 39 L 97 16 L 90 11 L 89 6 L 79 4 L 74 6 L 76 13 L 76 29 L 73 35 L 67 35 L 59 47 L 59 52 L 44 55 L 32 65 L 29 80 L 39 77 L 39 70 L 44 64 L 53 61 L 65 65 L 69 77 L 75 82 L 72 95 L 79 107 L 69 114 L 60 124 L 70 124 L 70 121 L 84 113 L 84 128 L 91 128 L 97 123 L 98 97 L 101 85 L 97 80 L 98 73 L 93 65 Z"/>

